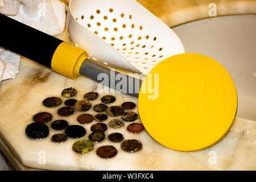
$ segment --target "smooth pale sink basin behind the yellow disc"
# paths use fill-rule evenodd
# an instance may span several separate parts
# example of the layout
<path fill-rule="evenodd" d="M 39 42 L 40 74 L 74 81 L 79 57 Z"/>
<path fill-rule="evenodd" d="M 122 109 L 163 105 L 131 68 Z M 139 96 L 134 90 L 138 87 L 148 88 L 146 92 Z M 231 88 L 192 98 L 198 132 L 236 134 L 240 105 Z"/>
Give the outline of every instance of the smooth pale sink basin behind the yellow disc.
<path fill-rule="evenodd" d="M 256 121 L 256 15 L 202 19 L 172 30 L 185 52 L 212 57 L 226 68 L 237 88 L 237 117 Z"/>

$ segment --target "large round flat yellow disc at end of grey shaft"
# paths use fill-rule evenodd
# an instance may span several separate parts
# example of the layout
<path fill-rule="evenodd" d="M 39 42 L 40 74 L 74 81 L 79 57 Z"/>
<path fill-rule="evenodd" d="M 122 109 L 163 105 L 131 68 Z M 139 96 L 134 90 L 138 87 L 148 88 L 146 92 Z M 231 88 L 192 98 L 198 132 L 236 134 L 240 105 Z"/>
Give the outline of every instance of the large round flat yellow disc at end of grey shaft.
<path fill-rule="evenodd" d="M 232 77 L 217 61 L 197 53 L 171 56 L 157 64 L 146 80 L 139 93 L 139 115 L 160 144 L 196 151 L 212 146 L 229 131 L 237 92 Z"/>

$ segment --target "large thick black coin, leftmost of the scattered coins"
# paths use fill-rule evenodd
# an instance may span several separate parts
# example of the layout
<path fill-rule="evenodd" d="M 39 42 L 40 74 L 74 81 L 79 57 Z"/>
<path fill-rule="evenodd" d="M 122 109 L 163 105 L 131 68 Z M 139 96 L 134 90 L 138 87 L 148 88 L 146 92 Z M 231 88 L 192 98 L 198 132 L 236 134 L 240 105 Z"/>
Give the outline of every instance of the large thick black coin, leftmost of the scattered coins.
<path fill-rule="evenodd" d="M 35 122 L 26 127 L 26 134 L 31 138 L 46 138 L 49 134 L 48 126 Z"/>

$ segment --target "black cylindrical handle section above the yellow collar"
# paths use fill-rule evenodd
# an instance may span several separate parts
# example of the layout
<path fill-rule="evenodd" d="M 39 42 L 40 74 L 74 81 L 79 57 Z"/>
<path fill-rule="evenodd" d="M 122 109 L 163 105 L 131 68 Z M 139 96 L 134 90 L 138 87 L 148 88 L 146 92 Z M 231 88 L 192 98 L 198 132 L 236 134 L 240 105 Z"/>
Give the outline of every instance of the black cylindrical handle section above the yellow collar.
<path fill-rule="evenodd" d="M 0 46 L 51 68 L 55 49 L 63 41 L 0 14 Z"/>

